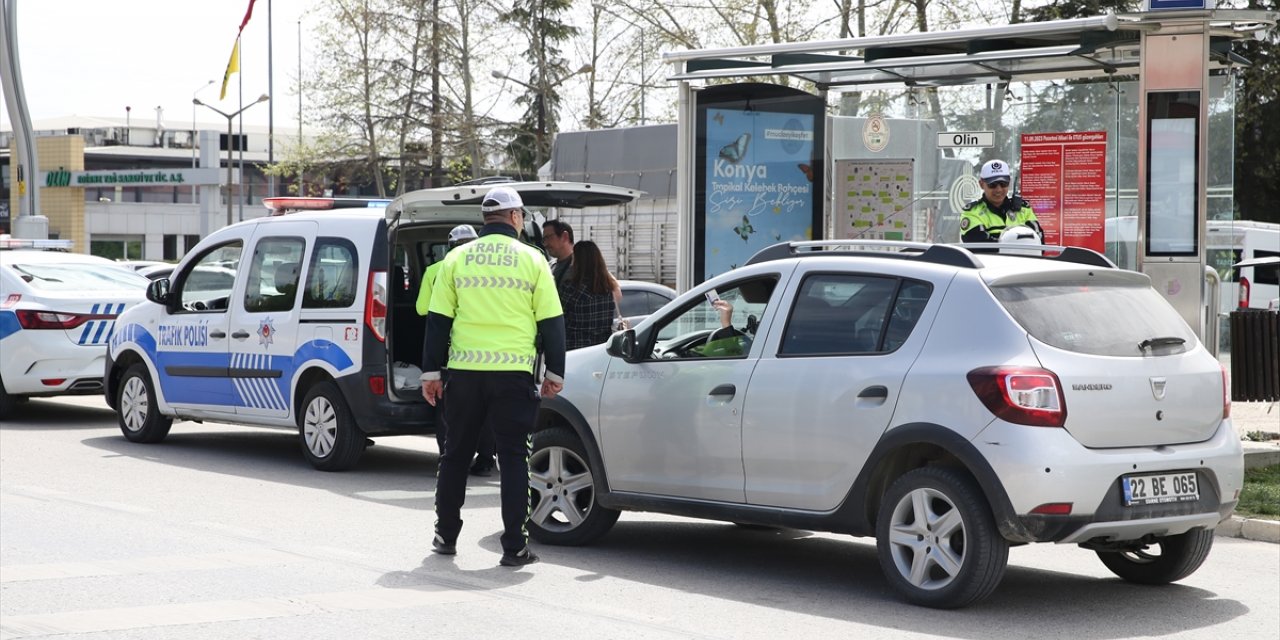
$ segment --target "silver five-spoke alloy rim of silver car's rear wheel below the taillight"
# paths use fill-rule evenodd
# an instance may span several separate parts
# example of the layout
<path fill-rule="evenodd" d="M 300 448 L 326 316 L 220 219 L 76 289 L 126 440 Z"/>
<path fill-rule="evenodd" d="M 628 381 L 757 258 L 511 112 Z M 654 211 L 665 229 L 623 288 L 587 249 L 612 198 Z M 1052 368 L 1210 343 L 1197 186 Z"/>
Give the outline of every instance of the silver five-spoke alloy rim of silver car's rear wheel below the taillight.
<path fill-rule="evenodd" d="M 893 508 L 890 522 L 893 563 L 919 589 L 941 589 L 960 573 L 965 553 L 964 518 L 941 492 L 915 489 Z"/>

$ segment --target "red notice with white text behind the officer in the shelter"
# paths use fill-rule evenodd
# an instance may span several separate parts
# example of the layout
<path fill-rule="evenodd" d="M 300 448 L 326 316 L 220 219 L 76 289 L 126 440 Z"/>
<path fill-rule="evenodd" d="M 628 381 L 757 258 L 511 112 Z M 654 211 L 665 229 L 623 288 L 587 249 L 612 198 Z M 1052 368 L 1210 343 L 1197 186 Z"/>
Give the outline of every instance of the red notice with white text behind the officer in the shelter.
<path fill-rule="evenodd" d="M 1107 132 L 1023 133 L 1020 195 L 1046 244 L 1106 250 Z"/>

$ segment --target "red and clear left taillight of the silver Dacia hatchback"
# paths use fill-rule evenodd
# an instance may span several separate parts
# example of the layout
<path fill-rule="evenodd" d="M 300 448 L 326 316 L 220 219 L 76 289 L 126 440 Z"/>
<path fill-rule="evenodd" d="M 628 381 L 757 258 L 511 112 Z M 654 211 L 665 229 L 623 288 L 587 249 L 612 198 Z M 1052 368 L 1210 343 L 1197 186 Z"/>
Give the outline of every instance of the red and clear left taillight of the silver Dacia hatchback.
<path fill-rule="evenodd" d="M 1066 424 L 1066 399 L 1053 371 L 986 366 L 969 371 L 968 378 L 978 399 L 1001 420 L 1029 426 Z"/>

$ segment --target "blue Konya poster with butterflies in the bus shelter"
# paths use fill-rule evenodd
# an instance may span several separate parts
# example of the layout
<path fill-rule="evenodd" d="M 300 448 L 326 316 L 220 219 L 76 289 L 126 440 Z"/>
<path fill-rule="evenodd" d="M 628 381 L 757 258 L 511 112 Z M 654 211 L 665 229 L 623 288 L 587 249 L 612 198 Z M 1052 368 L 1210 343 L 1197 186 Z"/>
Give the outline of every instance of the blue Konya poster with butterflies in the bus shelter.
<path fill-rule="evenodd" d="M 707 110 L 705 278 L 813 237 L 813 116 Z"/>

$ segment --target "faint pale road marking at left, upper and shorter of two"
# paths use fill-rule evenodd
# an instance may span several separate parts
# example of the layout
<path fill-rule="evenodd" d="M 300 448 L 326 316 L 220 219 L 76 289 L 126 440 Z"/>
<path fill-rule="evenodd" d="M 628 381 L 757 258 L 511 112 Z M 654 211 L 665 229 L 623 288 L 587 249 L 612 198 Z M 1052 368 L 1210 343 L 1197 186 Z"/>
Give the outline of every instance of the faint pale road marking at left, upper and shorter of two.
<path fill-rule="evenodd" d="M 69 577 L 128 576 L 143 573 L 163 573 L 168 571 L 202 571 L 218 568 L 264 567 L 310 562 L 294 553 L 264 549 L 255 552 L 206 553 L 200 556 L 157 556 L 150 558 L 128 558 L 95 562 L 59 562 L 50 564 L 5 566 L 0 572 L 3 582 L 26 582 L 31 580 L 63 580 Z"/>

